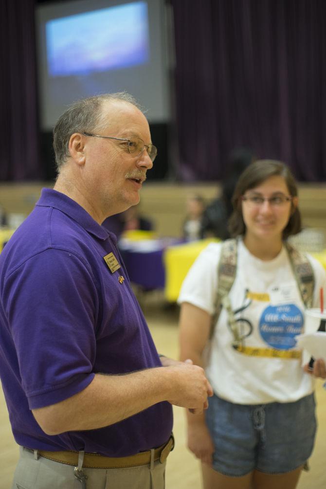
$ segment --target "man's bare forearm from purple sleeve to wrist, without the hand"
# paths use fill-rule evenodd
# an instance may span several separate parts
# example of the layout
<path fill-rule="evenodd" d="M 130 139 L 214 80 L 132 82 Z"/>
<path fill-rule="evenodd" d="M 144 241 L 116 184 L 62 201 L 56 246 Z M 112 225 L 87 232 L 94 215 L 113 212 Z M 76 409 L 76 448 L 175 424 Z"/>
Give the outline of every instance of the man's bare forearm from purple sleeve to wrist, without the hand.
<path fill-rule="evenodd" d="M 78 394 L 34 409 L 33 414 L 49 435 L 108 426 L 163 400 L 155 376 L 161 377 L 159 368 L 128 375 L 96 374 Z"/>

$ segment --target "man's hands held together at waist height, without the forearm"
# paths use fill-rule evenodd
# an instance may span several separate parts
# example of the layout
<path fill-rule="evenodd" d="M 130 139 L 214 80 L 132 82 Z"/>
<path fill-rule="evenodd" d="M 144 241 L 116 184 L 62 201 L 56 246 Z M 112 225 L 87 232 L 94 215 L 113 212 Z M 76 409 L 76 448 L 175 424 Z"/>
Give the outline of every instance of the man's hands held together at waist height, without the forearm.
<path fill-rule="evenodd" d="M 188 408 L 193 414 L 201 414 L 208 407 L 207 397 L 213 396 L 213 389 L 204 370 L 192 363 L 192 360 L 186 360 L 166 367 L 173 375 L 171 382 L 175 385 L 168 401 Z"/>

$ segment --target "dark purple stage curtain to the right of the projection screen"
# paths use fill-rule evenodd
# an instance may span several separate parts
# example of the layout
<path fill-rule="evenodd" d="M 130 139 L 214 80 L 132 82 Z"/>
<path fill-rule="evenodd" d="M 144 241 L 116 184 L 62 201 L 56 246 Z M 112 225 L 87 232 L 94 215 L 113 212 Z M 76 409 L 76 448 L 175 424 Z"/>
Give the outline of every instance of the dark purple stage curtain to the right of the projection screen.
<path fill-rule="evenodd" d="M 231 150 L 326 180 L 326 1 L 170 0 L 179 178 L 223 176 Z"/>

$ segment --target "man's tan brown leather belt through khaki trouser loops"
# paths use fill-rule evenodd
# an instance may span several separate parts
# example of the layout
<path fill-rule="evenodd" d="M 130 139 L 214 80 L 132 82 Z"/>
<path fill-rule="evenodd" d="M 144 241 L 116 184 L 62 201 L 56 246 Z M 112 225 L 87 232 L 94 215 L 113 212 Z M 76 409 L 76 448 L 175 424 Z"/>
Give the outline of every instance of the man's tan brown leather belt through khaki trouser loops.
<path fill-rule="evenodd" d="M 154 449 L 154 461 L 159 460 L 163 464 L 174 448 L 174 437 L 171 435 L 169 441 Z M 78 466 L 78 452 L 67 450 L 61 452 L 50 452 L 38 450 L 39 455 L 61 464 Z M 105 457 L 97 453 L 85 453 L 83 467 L 85 468 L 126 468 L 147 465 L 151 463 L 151 450 L 139 452 L 128 457 Z"/>

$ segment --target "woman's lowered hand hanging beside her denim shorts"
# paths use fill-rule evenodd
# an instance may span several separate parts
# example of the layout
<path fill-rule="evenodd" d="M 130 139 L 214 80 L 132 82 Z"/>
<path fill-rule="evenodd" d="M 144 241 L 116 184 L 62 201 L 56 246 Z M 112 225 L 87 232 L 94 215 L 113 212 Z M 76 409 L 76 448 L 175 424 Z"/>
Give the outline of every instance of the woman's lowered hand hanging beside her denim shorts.
<path fill-rule="evenodd" d="M 214 444 L 203 420 L 188 423 L 188 448 L 203 464 L 212 466 Z"/>

